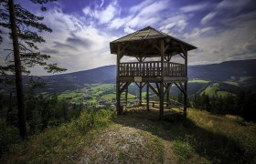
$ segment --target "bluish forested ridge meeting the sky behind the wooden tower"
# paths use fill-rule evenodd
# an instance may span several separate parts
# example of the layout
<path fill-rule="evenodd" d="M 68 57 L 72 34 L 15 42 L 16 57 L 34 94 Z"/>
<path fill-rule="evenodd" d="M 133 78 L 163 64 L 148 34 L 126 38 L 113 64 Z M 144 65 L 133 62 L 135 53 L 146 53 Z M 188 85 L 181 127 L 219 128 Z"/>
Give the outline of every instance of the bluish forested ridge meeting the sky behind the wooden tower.
<path fill-rule="evenodd" d="M 227 61 L 219 64 L 198 65 L 188 67 L 189 78 L 202 78 L 223 81 L 230 77 L 256 77 L 256 59 Z M 72 82 L 76 84 L 104 83 L 114 81 L 116 66 L 97 67 L 90 70 L 62 75 L 46 76 L 43 79 L 50 81 Z"/>

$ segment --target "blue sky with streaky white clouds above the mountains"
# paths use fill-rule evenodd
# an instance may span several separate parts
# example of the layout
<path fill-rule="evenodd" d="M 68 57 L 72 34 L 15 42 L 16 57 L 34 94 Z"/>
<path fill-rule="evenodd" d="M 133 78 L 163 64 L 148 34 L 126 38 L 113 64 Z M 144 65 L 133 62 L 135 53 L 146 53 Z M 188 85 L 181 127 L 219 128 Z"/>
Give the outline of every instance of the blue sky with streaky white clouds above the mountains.
<path fill-rule="evenodd" d="M 59 0 L 46 12 L 15 2 L 45 17 L 53 32 L 42 34 L 40 50 L 66 73 L 116 64 L 109 43 L 146 26 L 197 46 L 189 66 L 256 58 L 255 0 Z M 47 75 L 39 67 L 32 74 Z"/>

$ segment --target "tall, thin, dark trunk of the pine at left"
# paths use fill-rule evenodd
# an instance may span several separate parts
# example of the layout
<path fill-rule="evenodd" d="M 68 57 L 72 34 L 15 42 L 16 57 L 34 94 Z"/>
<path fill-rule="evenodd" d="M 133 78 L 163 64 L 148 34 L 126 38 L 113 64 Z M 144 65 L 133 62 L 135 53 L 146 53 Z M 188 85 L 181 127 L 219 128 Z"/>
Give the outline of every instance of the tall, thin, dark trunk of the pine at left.
<path fill-rule="evenodd" d="M 11 24 L 11 31 L 12 31 L 13 46 L 14 46 L 15 71 L 16 71 L 16 98 L 17 98 L 17 108 L 18 108 L 19 134 L 21 138 L 27 138 L 24 95 L 23 95 L 23 86 L 22 86 L 22 75 L 21 75 L 21 62 L 20 62 L 20 56 L 19 56 L 14 1 L 8 0 L 8 6 L 9 6 L 10 24 Z"/>

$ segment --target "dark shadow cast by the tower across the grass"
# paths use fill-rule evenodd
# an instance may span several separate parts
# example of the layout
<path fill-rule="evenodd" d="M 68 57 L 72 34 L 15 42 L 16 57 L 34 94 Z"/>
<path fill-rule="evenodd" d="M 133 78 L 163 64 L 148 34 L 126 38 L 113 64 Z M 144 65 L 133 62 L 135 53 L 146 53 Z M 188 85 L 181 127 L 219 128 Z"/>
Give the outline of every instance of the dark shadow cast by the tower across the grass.
<path fill-rule="evenodd" d="M 252 163 L 253 153 L 224 135 L 198 127 L 190 118 L 165 117 L 158 121 L 158 111 L 131 110 L 118 117 L 115 122 L 123 126 L 148 131 L 169 141 L 188 143 L 200 157 L 213 163 Z M 190 157 L 186 157 L 185 160 Z"/>

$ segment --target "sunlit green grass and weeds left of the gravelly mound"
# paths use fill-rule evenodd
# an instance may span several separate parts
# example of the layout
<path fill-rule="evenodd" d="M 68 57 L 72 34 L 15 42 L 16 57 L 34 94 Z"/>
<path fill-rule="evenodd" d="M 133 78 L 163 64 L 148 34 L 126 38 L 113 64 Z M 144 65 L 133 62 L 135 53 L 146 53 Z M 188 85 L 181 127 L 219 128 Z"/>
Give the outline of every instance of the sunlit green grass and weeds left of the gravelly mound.
<path fill-rule="evenodd" d="M 72 163 L 93 135 L 112 124 L 111 110 L 83 111 L 80 118 L 14 145 L 0 163 Z"/>

